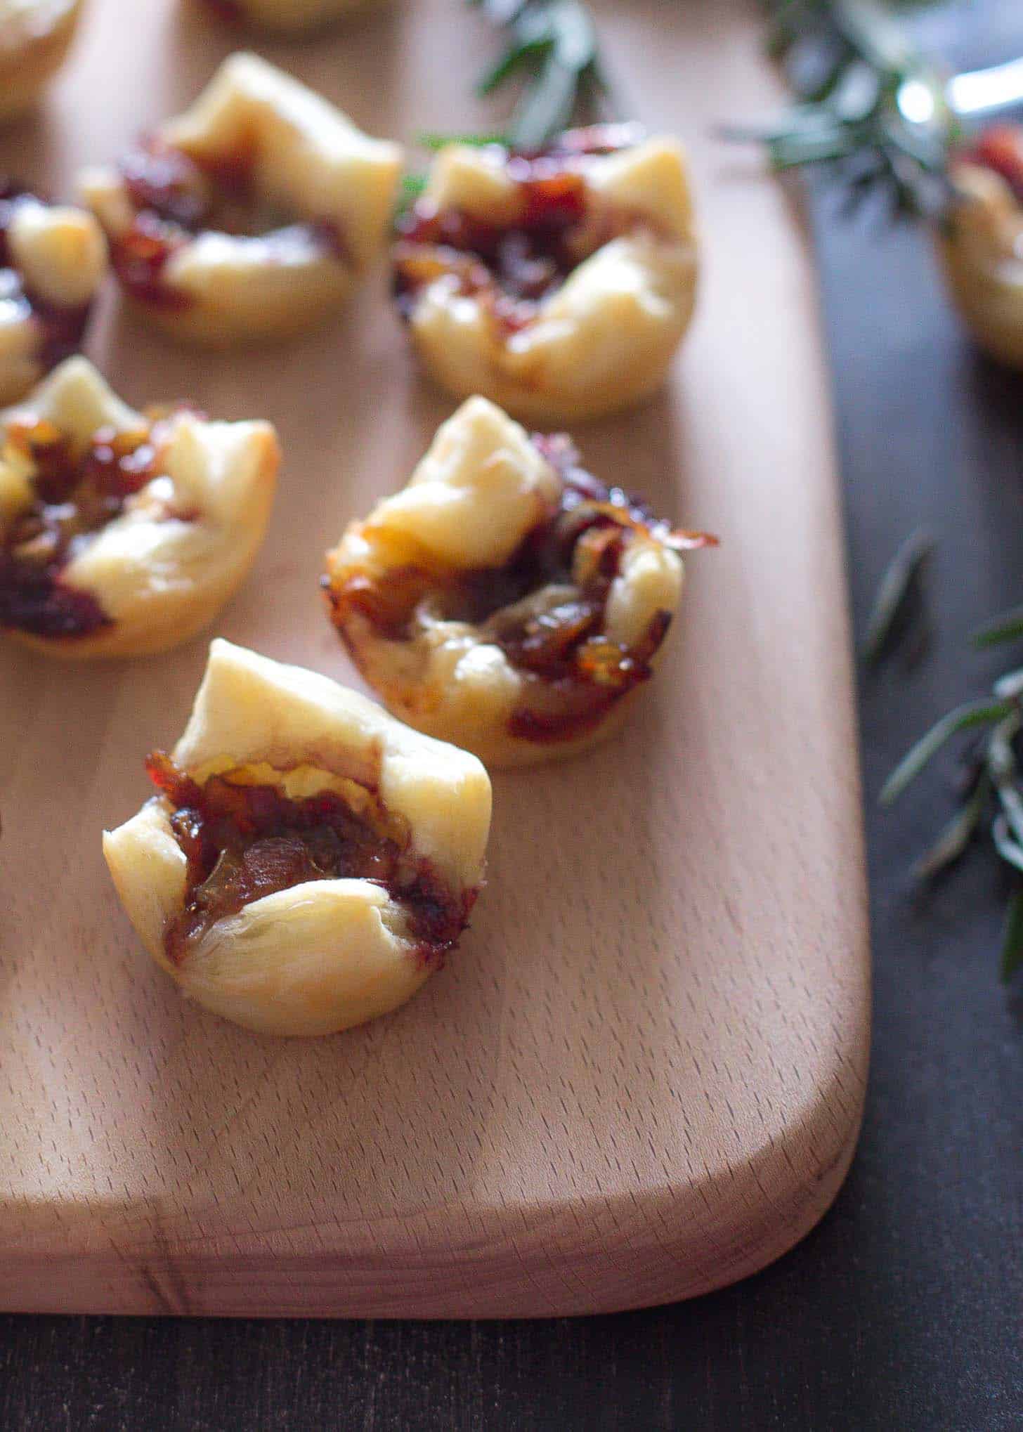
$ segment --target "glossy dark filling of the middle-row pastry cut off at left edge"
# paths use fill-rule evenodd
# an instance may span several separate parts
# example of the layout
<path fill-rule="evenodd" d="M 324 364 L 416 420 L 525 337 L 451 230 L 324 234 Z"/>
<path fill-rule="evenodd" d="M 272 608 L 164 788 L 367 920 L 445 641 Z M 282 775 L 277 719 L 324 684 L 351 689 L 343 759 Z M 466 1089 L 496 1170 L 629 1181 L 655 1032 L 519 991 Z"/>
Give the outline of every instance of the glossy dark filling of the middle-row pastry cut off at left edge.
<path fill-rule="evenodd" d="M 82 637 L 110 624 L 63 570 L 153 478 L 149 432 L 100 428 L 85 453 L 52 422 L 9 424 L 7 444 L 33 464 L 33 501 L 0 531 L 0 627 Z"/>

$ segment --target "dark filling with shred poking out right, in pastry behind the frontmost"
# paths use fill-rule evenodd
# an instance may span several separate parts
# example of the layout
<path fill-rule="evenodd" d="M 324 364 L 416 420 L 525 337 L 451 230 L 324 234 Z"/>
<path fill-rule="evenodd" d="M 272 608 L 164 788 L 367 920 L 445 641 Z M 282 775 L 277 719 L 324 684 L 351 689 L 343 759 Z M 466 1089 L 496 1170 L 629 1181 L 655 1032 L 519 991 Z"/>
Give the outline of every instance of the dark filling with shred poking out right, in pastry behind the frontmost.
<path fill-rule="evenodd" d="M 620 488 L 607 488 L 579 467 L 565 437 L 533 442 L 562 477 L 557 507 L 526 536 L 503 567 L 438 576 L 420 567 L 388 571 L 384 583 L 352 576 L 327 581 L 331 616 L 360 660 L 351 619 L 360 617 L 384 639 L 413 640 L 423 604 L 434 617 L 467 621 L 480 639 L 499 646 L 526 677 L 524 693 L 509 720 L 522 740 L 572 740 L 596 727 L 612 706 L 650 676 L 652 659 L 671 621 L 658 611 L 635 646 L 605 634 L 607 597 L 622 557 L 636 531 L 672 546 L 702 547 L 702 533 L 672 533 L 666 523 Z M 579 544 L 582 563 L 576 563 Z M 582 566 L 582 576 L 576 569 Z M 549 603 L 520 607 L 546 587 Z"/>

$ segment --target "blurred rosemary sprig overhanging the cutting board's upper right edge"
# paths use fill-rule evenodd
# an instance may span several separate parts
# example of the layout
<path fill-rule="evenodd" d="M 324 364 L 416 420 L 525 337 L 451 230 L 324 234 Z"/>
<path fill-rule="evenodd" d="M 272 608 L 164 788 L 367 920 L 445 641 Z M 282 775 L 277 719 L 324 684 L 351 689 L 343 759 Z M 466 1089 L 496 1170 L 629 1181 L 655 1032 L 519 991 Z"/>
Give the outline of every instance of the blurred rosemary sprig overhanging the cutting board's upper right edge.
<path fill-rule="evenodd" d="M 728 125 L 774 169 L 825 168 L 847 209 L 880 195 L 891 213 L 938 215 L 959 123 L 937 70 L 878 0 L 769 0 L 768 49 L 798 103 L 771 125 Z"/>

